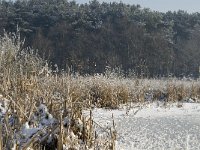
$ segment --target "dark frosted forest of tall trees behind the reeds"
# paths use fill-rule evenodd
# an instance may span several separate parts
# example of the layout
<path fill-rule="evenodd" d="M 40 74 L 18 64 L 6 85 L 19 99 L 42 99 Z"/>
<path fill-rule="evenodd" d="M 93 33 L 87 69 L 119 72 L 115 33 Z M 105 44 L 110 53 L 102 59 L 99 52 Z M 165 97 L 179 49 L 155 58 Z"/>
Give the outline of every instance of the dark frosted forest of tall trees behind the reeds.
<path fill-rule="evenodd" d="M 18 26 L 25 46 L 59 69 L 121 68 L 145 76 L 199 75 L 200 14 L 161 13 L 123 3 L 0 1 L 0 34 Z"/>

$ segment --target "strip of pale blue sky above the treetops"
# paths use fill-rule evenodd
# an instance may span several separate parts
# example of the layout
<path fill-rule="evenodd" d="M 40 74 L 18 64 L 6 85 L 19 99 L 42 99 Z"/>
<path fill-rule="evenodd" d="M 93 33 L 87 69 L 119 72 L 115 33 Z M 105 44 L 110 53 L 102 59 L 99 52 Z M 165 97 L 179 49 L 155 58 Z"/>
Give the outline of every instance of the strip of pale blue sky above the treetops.
<path fill-rule="evenodd" d="M 78 3 L 86 3 L 90 0 L 76 0 Z M 120 2 L 120 0 L 98 0 L 100 2 Z M 189 13 L 200 12 L 200 0 L 121 0 L 124 3 L 140 4 L 142 7 L 166 12 L 168 10 L 185 10 Z"/>

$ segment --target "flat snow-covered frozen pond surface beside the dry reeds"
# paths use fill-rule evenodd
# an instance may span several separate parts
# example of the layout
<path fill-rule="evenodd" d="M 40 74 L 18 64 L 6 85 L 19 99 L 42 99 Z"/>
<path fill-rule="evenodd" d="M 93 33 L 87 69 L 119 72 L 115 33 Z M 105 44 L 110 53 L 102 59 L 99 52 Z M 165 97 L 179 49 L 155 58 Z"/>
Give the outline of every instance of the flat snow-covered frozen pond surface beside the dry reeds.
<path fill-rule="evenodd" d="M 98 132 L 112 127 L 114 118 L 117 150 L 200 150 L 200 104 L 181 106 L 151 103 L 128 111 L 94 109 L 93 117 Z"/>

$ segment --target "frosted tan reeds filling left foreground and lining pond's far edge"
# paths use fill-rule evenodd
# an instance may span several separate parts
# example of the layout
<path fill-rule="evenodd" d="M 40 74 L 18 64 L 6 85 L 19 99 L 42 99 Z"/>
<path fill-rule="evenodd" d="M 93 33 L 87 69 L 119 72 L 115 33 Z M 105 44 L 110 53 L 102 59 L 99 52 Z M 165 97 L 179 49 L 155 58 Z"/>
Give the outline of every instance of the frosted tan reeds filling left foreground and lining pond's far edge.
<path fill-rule="evenodd" d="M 58 73 L 34 50 L 22 47 L 18 33 L 0 38 L 1 149 L 114 149 L 115 131 L 106 140 L 98 140 L 92 111 L 86 117 L 84 109 L 200 99 L 198 80 L 123 78 L 112 72 L 94 76 Z M 54 121 L 41 128 L 43 114 Z M 28 139 L 21 137 L 27 126 L 30 131 L 39 129 Z"/>

